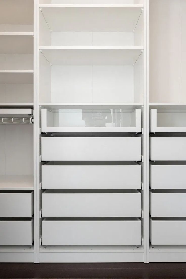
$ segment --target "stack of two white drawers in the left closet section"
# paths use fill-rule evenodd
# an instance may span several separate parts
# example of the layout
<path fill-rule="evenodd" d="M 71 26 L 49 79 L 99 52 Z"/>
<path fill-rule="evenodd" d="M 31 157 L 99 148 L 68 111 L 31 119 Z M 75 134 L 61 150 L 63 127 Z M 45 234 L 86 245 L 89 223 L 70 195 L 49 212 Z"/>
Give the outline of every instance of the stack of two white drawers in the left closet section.
<path fill-rule="evenodd" d="M 32 245 L 33 191 L 0 191 L 0 245 Z"/>

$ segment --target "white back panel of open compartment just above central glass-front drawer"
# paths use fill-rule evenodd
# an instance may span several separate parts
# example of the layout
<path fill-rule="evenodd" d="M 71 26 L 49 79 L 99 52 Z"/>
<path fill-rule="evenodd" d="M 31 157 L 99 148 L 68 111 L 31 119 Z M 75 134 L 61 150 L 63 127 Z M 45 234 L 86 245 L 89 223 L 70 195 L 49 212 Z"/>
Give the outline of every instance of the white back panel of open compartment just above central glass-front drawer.
<path fill-rule="evenodd" d="M 133 66 L 52 66 L 52 102 L 134 102 Z"/>

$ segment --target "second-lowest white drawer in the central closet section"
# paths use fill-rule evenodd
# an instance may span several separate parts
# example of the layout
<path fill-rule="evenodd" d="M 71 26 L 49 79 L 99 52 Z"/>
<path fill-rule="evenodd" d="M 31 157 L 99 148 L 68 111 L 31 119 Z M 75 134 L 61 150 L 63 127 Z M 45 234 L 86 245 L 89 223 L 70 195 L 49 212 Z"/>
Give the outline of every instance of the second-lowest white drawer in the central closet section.
<path fill-rule="evenodd" d="M 62 193 L 42 194 L 42 217 L 140 217 L 141 193 Z"/>

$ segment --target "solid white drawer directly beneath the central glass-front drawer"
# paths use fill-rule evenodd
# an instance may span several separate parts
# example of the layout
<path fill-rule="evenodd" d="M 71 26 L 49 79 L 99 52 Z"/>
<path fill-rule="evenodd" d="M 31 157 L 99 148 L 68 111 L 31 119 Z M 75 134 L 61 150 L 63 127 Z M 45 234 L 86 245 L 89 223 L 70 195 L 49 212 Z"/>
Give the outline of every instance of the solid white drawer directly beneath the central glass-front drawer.
<path fill-rule="evenodd" d="M 140 161 L 138 137 L 45 137 L 43 161 Z"/>

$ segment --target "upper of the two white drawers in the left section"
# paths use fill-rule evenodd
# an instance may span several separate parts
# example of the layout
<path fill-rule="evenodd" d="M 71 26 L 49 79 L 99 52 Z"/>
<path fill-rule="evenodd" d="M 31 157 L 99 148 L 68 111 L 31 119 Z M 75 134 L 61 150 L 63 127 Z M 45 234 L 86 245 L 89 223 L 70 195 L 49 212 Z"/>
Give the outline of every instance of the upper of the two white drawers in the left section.
<path fill-rule="evenodd" d="M 33 191 L 1 191 L 0 217 L 32 217 Z"/>

